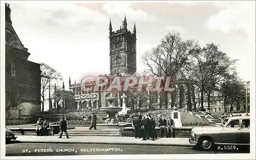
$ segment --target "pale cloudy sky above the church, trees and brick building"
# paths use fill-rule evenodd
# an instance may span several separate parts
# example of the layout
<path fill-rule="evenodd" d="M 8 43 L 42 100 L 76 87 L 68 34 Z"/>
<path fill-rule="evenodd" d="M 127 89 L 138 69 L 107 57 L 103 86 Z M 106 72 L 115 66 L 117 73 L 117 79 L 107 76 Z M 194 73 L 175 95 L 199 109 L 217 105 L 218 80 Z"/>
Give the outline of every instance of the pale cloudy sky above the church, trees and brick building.
<path fill-rule="evenodd" d="M 254 79 L 254 1 L 1 3 L 6 2 L 13 28 L 31 53 L 29 61 L 55 68 L 65 86 L 69 77 L 74 84 L 86 75 L 110 73 L 109 21 L 113 31 L 119 30 L 124 15 L 131 32 L 136 23 L 137 72 L 146 68 L 141 63 L 143 53 L 157 46 L 168 32 L 178 31 L 183 40 L 195 39 L 202 47 L 218 44 L 229 57 L 240 59 L 237 69 L 243 81 Z"/>

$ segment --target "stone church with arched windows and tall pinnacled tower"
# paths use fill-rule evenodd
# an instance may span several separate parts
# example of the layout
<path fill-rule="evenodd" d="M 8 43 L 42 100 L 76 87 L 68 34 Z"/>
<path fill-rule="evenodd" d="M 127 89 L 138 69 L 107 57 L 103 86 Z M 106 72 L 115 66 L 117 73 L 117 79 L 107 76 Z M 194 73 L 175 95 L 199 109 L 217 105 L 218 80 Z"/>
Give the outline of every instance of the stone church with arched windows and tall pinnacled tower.
<path fill-rule="evenodd" d="M 109 39 L 110 39 L 110 74 L 109 75 L 101 75 L 101 76 L 109 76 L 109 79 L 113 75 L 119 75 L 121 73 L 124 74 L 134 74 L 136 73 L 136 25 L 134 23 L 133 32 L 127 29 L 127 21 L 126 16 L 124 16 L 124 20 L 122 21 L 122 26 L 120 26 L 120 30 L 113 31 L 112 23 L 110 20 L 109 24 Z M 88 82 L 86 84 L 78 83 L 71 84 L 71 79 L 69 80 L 69 89 L 74 93 L 74 109 L 98 109 L 106 104 L 106 97 L 110 96 L 110 92 L 103 91 L 84 91 L 83 87 L 92 87 L 96 85 L 95 82 Z M 113 93 L 114 96 L 117 97 L 116 106 L 122 106 L 122 93 Z M 144 106 L 146 108 L 151 106 L 159 106 L 160 103 L 159 93 L 152 93 L 150 96 L 137 97 L 132 102 L 129 97 L 126 100 L 127 108 L 131 108 L 134 106 Z M 164 101 L 170 101 L 169 94 L 166 96 L 167 99 L 163 100 L 163 96 L 161 98 L 162 104 Z M 185 103 L 185 98 L 182 96 L 181 99 Z M 182 103 L 183 103 L 182 102 Z"/>

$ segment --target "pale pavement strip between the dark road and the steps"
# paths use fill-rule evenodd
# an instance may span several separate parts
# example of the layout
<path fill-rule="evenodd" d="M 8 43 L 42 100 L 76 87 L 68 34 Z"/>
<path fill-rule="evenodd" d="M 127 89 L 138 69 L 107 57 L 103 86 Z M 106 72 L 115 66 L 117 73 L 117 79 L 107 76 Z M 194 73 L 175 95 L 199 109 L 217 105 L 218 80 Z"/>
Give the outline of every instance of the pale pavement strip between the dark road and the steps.
<path fill-rule="evenodd" d="M 188 138 L 158 138 L 155 141 L 135 139 L 134 137 L 103 137 L 103 136 L 70 136 L 62 138 L 58 136 L 17 136 L 17 140 L 23 143 L 69 143 L 69 144 L 112 144 L 112 145 L 150 145 L 150 146 L 183 146 L 193 147 Z"/>

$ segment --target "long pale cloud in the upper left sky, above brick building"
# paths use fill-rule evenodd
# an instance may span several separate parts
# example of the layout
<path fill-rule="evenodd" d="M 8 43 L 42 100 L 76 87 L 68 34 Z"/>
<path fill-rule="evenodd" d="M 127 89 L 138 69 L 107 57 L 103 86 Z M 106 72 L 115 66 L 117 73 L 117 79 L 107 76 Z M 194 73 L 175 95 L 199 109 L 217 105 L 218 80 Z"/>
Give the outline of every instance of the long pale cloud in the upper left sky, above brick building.
<path fill-rule="evenodd" d="M 58 3 L 58 2 L 29 2 L 22 4 L 22 14 L 18 14 L 15 18 L 26 19 L 27 21 L 44 25 L 53 23 L 59 26 L 77 27 L 80 21 L 89 20 L 93 22 L 108 22 L 108 18 L 98 12 L 90 10 L 84 6 L 78 6 L 74 3 Z M 10 4 L 14 12 L 18 12 L 19 8 Z M 24 12 L 25 11 L 25 12 Z"/>

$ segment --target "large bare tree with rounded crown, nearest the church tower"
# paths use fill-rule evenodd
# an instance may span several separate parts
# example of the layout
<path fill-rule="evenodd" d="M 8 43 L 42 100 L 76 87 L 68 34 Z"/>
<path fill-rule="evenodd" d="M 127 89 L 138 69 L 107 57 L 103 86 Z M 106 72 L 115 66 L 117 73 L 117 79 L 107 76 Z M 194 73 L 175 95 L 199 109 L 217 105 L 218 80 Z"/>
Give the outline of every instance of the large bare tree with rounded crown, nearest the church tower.
<path fill-rule="evenodd" d="M 156 76 L 170 76 L 172 79 L 172 86 L 179 84 L 177 79 L 180 77 L 178 72 L 187 62 L 191 52 L 198 47 L 194 40 L 182 41 L 178 32 L 168 33 L 160 42 L 160 44 L 151 51 L 146 51 L 142 56 L 142 62 L 146 65 L 145 73 L 152 73 Z M 172 99 L 176 93 L 170 93 Z M 167 107 L 167 92 L 163 92 L 165 99 L 165 106 Z"/>

